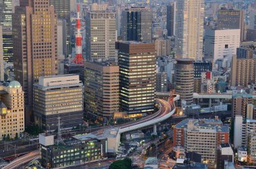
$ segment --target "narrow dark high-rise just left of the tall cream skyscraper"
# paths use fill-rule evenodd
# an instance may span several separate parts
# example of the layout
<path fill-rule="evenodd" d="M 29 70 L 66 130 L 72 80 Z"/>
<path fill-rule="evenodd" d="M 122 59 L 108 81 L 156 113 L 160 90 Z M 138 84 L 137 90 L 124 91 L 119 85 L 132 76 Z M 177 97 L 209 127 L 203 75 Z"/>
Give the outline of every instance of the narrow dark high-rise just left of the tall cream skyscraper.
<path fill-rule="evenodd" d="M 174 36 L 175 34 L 175 9 L 176 2 L 167 5 L 167 16 L 166 16 L 166 29 L 168 36 Z"/>

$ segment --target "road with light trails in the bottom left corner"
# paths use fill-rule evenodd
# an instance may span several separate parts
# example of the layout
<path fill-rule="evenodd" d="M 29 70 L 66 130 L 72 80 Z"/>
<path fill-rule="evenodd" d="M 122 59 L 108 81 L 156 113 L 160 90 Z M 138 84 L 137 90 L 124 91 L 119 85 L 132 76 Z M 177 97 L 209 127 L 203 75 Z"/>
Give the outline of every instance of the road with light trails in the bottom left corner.
<path fill-rule="evenodd" d="M 40 158 L 40 151 L 32 151 L 20 158 L 17 158 L 16 160 L 13 160 L 10 162 L 7 166 L 5 166 L 3 169 L 17 169 L 23 166 L 24 164 L 27 164 L 28 162 L 31 162 L 32 160 Z"/>

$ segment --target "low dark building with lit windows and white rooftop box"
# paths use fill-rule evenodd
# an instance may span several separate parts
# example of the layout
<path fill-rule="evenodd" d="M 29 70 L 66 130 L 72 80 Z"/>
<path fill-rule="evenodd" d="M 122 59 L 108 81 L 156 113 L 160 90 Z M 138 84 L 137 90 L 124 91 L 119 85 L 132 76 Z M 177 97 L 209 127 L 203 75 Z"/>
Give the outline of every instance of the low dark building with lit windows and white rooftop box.
<path fill-rule="evenodd" d="M 44 168 L 65 168 L 105 160 L 107 140 L 96 135 L 79 135 L 55 142 L 54 137 L 40 135 L 41 159 Z"/>

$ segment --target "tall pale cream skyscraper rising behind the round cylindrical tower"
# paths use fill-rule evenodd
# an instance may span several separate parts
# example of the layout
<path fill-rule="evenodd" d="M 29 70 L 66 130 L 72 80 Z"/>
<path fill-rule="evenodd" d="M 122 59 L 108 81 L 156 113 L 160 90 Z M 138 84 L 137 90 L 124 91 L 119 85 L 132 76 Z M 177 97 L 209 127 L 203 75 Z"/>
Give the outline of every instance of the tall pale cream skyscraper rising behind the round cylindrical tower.
<path fill-rule="evenodd" d="M 178 0 L 176 5 L 176 58 L 203 59 L 204 1 Z"/>

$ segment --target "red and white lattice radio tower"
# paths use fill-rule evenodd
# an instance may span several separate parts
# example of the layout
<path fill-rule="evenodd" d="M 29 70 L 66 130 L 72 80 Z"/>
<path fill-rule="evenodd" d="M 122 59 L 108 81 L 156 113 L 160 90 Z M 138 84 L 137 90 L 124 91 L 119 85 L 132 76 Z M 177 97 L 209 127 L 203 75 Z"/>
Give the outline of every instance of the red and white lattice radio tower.
<path fill-rule="evenodd" d="M 72 63 L 83 64 L 84 57 L 82 57 L 82 34 L 81 34 L 81 22 L 79 18 L 80 7 L 77 4 L 77 19 L 76 19 L 76 29 L 77 32 L 75 34 L 75 58 L 73 59 Z"/>

